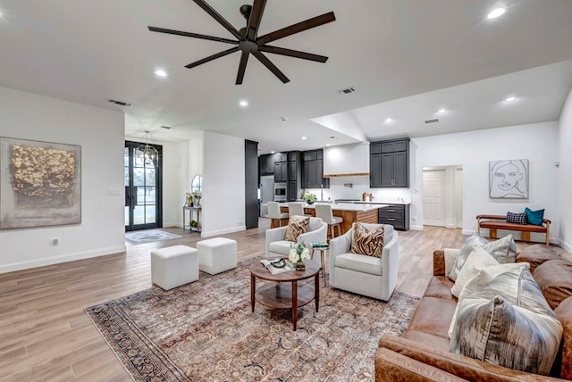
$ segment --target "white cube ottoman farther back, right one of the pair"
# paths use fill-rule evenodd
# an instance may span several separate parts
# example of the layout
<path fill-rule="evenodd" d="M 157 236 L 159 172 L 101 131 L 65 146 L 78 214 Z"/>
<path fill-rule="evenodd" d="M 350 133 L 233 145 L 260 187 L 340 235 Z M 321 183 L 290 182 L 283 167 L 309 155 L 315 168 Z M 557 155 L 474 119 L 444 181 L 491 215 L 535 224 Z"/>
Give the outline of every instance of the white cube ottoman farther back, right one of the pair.
<path fill-rule="evenodd" d="M 225 237 L 197 242 L 198 269 L 209 275 L 236 268 L 236 241 Z"/>

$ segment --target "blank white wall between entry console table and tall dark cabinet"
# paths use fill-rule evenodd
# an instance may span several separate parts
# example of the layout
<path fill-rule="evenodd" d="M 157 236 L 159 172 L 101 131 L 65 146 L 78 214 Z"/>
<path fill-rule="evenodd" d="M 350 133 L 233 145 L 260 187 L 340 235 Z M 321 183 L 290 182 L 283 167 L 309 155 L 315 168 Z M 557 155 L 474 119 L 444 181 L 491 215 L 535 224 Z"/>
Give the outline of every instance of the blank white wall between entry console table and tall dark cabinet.
<path fill-rule="evenodd" d="M 206 131 L 203 155 L 201 236 L 245 230 L 244 139 Z"/>

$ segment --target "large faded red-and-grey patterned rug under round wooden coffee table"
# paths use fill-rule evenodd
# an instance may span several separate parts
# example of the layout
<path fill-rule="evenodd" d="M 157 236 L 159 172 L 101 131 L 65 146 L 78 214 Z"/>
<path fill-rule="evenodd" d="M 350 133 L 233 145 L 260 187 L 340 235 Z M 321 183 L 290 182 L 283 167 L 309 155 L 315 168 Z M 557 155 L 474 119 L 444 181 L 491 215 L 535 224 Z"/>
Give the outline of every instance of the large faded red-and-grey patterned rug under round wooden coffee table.
<path fill-rule="evenodd" d="M 314 302 L 299 308 L 293 331 L 290 310 L 257 303 L 251 312 L 248 267 L 258 260 L 86 311 L 136 381 L 349 381 L 374 378 L 380 336 L 400 336 L 419 300 L 394 292 L 383 303 L 321 287 L 319 311 Z"/>

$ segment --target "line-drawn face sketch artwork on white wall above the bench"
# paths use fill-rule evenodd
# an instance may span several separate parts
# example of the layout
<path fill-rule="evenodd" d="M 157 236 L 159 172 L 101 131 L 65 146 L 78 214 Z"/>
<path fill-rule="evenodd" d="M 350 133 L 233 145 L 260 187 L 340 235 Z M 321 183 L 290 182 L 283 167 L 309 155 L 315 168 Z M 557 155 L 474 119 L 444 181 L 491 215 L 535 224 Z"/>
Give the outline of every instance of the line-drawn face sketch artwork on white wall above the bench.
<path fill-rule="evenodd" d="M 528 199 L 528 160 L 489 162 L 489 195 L 501 199 Z"/>

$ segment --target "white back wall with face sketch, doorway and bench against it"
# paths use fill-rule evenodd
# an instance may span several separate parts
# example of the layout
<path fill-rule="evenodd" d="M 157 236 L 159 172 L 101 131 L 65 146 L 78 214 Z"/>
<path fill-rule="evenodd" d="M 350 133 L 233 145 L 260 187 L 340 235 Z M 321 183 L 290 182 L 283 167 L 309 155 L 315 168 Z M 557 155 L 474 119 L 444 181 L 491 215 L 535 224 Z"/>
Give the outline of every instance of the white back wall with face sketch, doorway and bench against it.
<path fill-rule="evenodd" d="M 423 219 L 423 167 L 463 167 L 463 233 L 476 230 L 475 216 L 481 213 L 504 215 L 545 209 L 544 217 L 552 220 L 551 237 L 559 232 L 559 129 L 557 122 L 543 122 L 499 129 L 411 139 L 412 228 L 420 228 Z M 489 161 L 528 159 L 528 200 L 491 199 L 489 197 Z M 417 190 L 417 191 L 415 191 Z M 486 230 L 482 232 L 487 234 Z M 501 233 L 500 233 L 501 235 Z M 514 232 L 515 237 L 520 234 Z M 543 235 L 533 234 L 534 241 L 543 242 Z"/>

